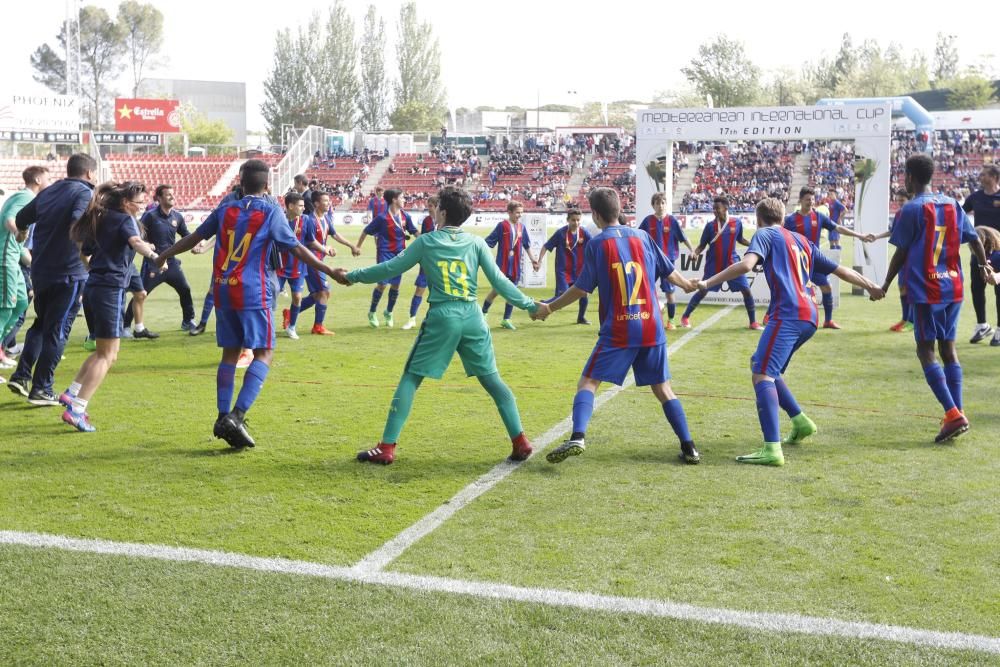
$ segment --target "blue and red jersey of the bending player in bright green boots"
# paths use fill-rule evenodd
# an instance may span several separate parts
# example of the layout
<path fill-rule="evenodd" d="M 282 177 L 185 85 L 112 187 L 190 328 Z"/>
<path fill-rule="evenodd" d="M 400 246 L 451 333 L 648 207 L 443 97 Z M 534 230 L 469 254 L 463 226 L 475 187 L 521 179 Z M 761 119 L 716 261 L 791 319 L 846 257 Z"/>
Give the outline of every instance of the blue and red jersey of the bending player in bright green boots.
<path fill-rule="evenodd" d="M 750 253 L 761 258 L 771 289 L 768 318 L 777 322 L 803 320 L 818 326 L 811 280 L 816 274 L 833 273 L 837 263 L 806 237 L 777 225 L 757 230 L 747 249 Z"/>

